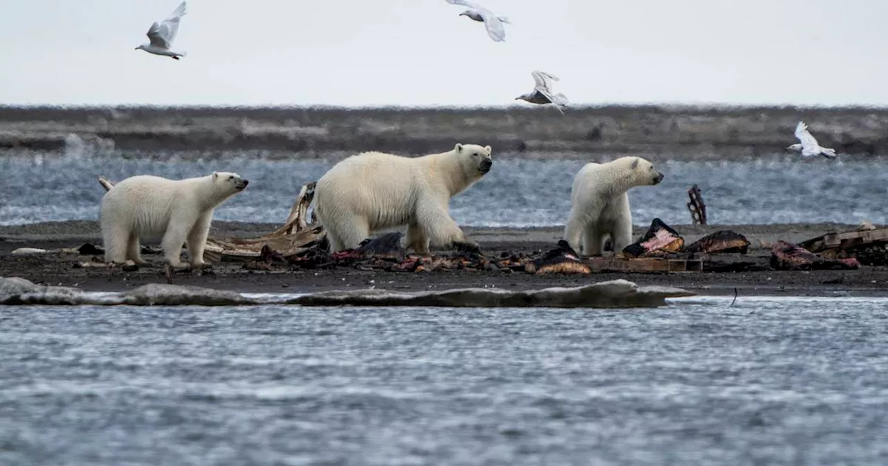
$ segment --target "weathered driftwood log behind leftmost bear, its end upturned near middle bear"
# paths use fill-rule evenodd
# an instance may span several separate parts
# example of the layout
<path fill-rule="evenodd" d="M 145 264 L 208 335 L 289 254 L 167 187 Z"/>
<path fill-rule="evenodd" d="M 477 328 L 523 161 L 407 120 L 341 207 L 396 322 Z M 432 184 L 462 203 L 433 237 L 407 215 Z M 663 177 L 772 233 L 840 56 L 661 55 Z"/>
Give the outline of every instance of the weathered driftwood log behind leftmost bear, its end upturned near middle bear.
<path fill-rule="evenodd" d="M 105 177 L 99 177 L 99 185 L 106 190 L 114 187 L 114 183 Z M 207 238 L 204 259 L 209 262 L 254 260 L 262 257 L 262 249 L 266 245 L 286 258 L 304 254 L 318 246 L 327 234 L 314 216 L 308 217 L 308 206 L 314 199 L 314 186 L 314 181 L 302 186 L 289 210 L 289 216 L 274 232 L 258 238 Z"/>

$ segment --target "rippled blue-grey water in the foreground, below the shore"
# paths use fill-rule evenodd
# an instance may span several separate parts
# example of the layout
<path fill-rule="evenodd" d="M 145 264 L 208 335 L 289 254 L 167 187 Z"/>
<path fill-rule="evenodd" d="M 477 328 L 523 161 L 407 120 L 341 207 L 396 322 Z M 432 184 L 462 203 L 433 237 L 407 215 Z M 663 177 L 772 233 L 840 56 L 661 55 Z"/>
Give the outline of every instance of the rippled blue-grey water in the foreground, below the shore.
<path fill-rule="evenodd" d="M 3 464 L 884 464 L 888 300 L 0 308 Z"/>

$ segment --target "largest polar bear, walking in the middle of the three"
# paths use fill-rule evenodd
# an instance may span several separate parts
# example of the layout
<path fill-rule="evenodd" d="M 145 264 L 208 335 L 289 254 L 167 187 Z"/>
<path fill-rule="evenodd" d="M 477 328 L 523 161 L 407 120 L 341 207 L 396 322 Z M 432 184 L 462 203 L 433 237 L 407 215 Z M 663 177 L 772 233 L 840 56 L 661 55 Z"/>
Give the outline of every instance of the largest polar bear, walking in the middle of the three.
<path fill-rule="evenodd" d="M 338 162 L 314 191 L 315 212 L 330 251 L 353 249 L 371 232 L 407 225 L 405 245 L 427 255 L 429 246 L 478 250 L 448 212 L 450 198 L 493 165 L 490 146 L 457 144 L 421 157 L 366 152 Z"/>

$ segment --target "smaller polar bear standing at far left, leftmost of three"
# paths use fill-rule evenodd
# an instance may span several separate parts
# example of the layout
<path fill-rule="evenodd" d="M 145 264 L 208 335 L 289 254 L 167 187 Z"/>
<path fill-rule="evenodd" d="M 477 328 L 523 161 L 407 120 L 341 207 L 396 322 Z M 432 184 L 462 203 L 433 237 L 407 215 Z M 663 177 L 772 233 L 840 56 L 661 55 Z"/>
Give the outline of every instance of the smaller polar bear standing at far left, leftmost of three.
<path fill-rule="evenodd" d="M 183 266 L 179 255 L 184 242 L 191 265 L 202 267 L 213 210 L 249 183 L 237 173 L 223 171 L 199 178 L 124 179 L 102 197 L 99 209 L 105 261 L 147 264 L 139 256 L 139 239 L 163 235 L 161 247 L 168 265 Z"/>

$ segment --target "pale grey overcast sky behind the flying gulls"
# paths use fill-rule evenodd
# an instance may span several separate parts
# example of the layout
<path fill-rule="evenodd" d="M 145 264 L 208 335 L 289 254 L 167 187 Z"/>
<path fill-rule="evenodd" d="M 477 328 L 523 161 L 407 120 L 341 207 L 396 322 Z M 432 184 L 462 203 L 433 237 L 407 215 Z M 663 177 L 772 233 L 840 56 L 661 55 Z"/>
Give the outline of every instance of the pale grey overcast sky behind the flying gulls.
<path fill-rule="evenodd" d="M 482 0 L 504 43 L 444 0 L 188 0 L 186 58 L 133 50 L 178 1 L 0 1 L 0 103 L 518 105 L 541 69 L 576 104 L 888 105 L 876 0 Z"/>

